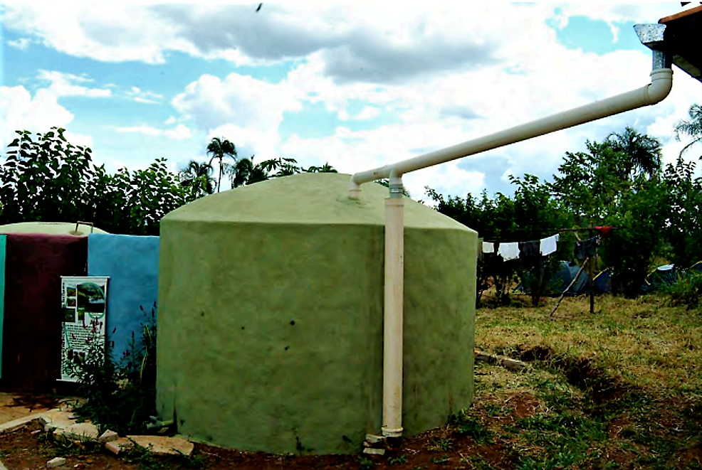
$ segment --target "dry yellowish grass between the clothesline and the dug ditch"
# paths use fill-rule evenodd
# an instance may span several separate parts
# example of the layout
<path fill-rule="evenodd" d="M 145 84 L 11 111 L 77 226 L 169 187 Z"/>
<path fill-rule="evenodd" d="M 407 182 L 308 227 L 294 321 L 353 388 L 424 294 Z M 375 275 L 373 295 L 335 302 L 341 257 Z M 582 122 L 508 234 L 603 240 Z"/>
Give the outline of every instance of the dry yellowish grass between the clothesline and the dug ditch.
<path fill-rule="evenodd" d="M 540 347 L 587 359 L 609 377 L 659 396 L 702 397 L 702 311 L 667 306 L 659 296 L 605 295 L 590 314 L 587 297 L 556 299 L 536 309 L 478 309 L 476 348 L 519 357 Z"/>

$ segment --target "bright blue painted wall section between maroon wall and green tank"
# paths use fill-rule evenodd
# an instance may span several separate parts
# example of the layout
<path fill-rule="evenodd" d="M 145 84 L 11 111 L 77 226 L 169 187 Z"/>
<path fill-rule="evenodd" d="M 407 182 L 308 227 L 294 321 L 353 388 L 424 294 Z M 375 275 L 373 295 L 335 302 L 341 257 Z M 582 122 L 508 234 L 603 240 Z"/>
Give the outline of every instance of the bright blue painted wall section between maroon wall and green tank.
<path fill-rule="evenodd" d="M 106 333 L 112 358 L 120 360 L 132 333 L 138 343 L 158 299 L 159 237 L 89 235 L 88 276 L 110 278 Z"/>

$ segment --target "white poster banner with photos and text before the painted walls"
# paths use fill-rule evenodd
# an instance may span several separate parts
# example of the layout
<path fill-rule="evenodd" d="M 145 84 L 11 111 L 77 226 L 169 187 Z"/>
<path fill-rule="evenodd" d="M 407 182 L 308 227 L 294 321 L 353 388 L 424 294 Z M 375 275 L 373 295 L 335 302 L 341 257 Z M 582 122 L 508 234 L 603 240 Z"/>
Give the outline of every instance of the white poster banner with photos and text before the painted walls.
<path fill-rule="evenodd" d="M 61 277 L 61 380 L 78 381 L 74 366 L 85 360 L 90 346 L 104 357 L 108 279 Z"/>

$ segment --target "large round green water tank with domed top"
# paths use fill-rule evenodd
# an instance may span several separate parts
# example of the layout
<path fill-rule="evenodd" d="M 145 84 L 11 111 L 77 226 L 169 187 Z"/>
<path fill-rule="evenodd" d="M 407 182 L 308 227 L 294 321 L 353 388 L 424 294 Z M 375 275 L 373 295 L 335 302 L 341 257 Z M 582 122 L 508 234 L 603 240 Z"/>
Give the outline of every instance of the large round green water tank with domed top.
<path fill-rule="evenodd" d="M 239 450 L 358 452 L 382 425 L 384 199 L 303 173 L 161 223 L 157 407 Z M 405 199 L 404 435 L 473 400 L 477 233 Z"/>

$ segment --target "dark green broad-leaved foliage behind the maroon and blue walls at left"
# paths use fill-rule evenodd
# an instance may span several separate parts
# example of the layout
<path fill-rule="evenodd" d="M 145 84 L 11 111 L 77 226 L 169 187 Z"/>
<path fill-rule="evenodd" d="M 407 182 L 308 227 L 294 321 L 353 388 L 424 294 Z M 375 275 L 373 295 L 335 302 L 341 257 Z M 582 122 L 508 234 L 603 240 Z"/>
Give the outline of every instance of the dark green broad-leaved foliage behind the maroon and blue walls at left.
<path fill-rule="evenodd" d="M 90 148 L 70 144 L 64 132 L 17 132 L 0 164 L 0 223 L 82 220 L 110 233 L 158 235 L 166 213 L 197 198 L 165 159 L 110 175 L 93 164 Z"/>

